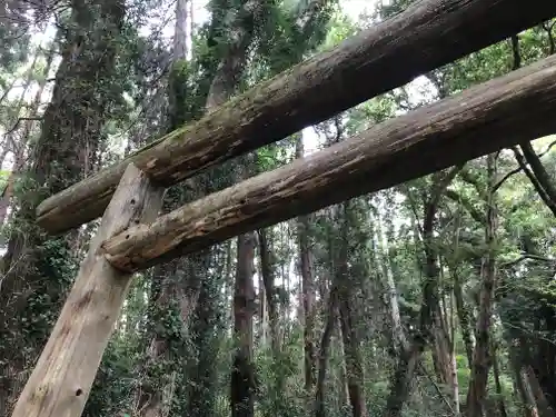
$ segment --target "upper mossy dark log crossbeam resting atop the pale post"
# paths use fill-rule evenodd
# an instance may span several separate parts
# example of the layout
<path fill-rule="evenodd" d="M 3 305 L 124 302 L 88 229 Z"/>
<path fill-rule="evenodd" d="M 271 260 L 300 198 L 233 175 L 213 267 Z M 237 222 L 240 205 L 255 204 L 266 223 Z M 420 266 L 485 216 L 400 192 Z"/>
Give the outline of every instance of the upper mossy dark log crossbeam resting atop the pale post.
<path fill-rule="evenodd" d="M 38 222 L 63 231 L 102 214 L 129 161 L 166 185 L 280 140 L 416 76 L 556 16 L 556 1 L 421 0 L 261 83 L 98 175 L 44 200 Z"/>

